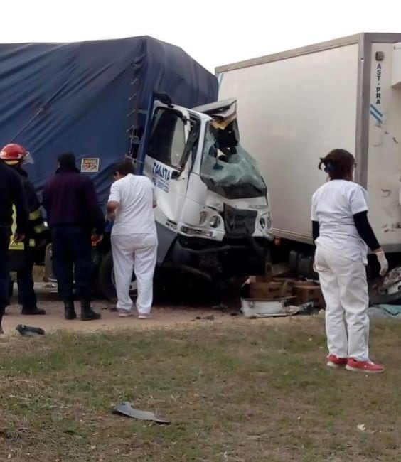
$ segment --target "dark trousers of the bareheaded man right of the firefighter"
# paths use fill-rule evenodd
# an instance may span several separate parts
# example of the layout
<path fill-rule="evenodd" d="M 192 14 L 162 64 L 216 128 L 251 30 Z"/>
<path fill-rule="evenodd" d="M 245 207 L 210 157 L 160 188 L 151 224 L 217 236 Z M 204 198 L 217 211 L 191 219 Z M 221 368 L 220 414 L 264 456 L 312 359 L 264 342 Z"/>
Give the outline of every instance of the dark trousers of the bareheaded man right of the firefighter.
<path fill-rule="evenodd" d="M 63 301 L 72 301 L 75 280 L 77 296 L 90 300 L 93 274 L 90 230 L 80 226 L 55 226 L 51 237 L 58 296 Z"/>

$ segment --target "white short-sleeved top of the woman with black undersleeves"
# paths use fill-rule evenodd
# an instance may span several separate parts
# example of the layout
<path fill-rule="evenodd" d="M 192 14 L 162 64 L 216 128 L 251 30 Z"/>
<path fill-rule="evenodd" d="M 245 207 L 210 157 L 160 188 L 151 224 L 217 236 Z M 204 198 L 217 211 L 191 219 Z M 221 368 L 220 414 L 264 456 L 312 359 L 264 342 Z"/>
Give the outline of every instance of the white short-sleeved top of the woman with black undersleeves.
<path fill-rule="evenodd" d="M 368 246 L 355 227 L 353 215 L 368 211 L 368 193 L 353 181 L 331 180 L 312 197 L 311 218 L 319 222 L 316 244 L 353 262 L 368 263 Z"/>

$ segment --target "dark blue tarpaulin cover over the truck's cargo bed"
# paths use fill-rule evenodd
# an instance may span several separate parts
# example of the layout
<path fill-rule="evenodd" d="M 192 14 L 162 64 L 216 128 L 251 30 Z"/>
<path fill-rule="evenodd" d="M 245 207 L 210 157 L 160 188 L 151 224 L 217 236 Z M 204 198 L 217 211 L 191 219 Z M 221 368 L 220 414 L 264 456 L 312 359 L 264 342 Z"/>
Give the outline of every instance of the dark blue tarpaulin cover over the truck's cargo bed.
<path fill-rule="evenodd" d="M 0 144 L 31 151 L 26 170 L 38 190 L 59 154 L 87 159 L 104 204 L 112 165 L 128 154 L 135 114 L 153 91 L 195 107 L 217 99 L 218 82 L 181 48 L 147 36 L 0 45 Z"/>

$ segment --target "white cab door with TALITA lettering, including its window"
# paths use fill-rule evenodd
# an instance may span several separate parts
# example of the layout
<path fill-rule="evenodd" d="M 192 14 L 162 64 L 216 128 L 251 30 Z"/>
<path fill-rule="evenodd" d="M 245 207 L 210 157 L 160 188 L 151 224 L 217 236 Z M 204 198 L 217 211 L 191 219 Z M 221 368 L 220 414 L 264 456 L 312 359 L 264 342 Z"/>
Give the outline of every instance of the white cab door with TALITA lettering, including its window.
<path fill-rule="evenodd" d="M 186 141 L 191 130 L 186 109 L 157 105 L 151 124 L 144 174 L 155 186 L 156 220 L 176 227 L 186 198 L 191 159 Z"/>

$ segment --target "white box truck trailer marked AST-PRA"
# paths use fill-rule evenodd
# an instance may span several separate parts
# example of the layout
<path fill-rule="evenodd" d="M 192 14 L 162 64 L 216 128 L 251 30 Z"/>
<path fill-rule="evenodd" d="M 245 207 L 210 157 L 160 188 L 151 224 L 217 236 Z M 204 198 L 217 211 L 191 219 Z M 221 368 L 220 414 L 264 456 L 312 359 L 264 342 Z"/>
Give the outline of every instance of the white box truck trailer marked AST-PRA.
<path fill-rule="evenodd" d="M 392 267 L 401 264 L 401 33 L 361 33 L 216 73 L 219 98 L 237 99 L 242 144 L 267 182 L 274 235 L 292 266 L 311 271 L 302 257 L 308 245 L 312 254 L 311 195 L 326 180 L 319 157 L 334 148 L 355 154 L 370 222 Z"/>

